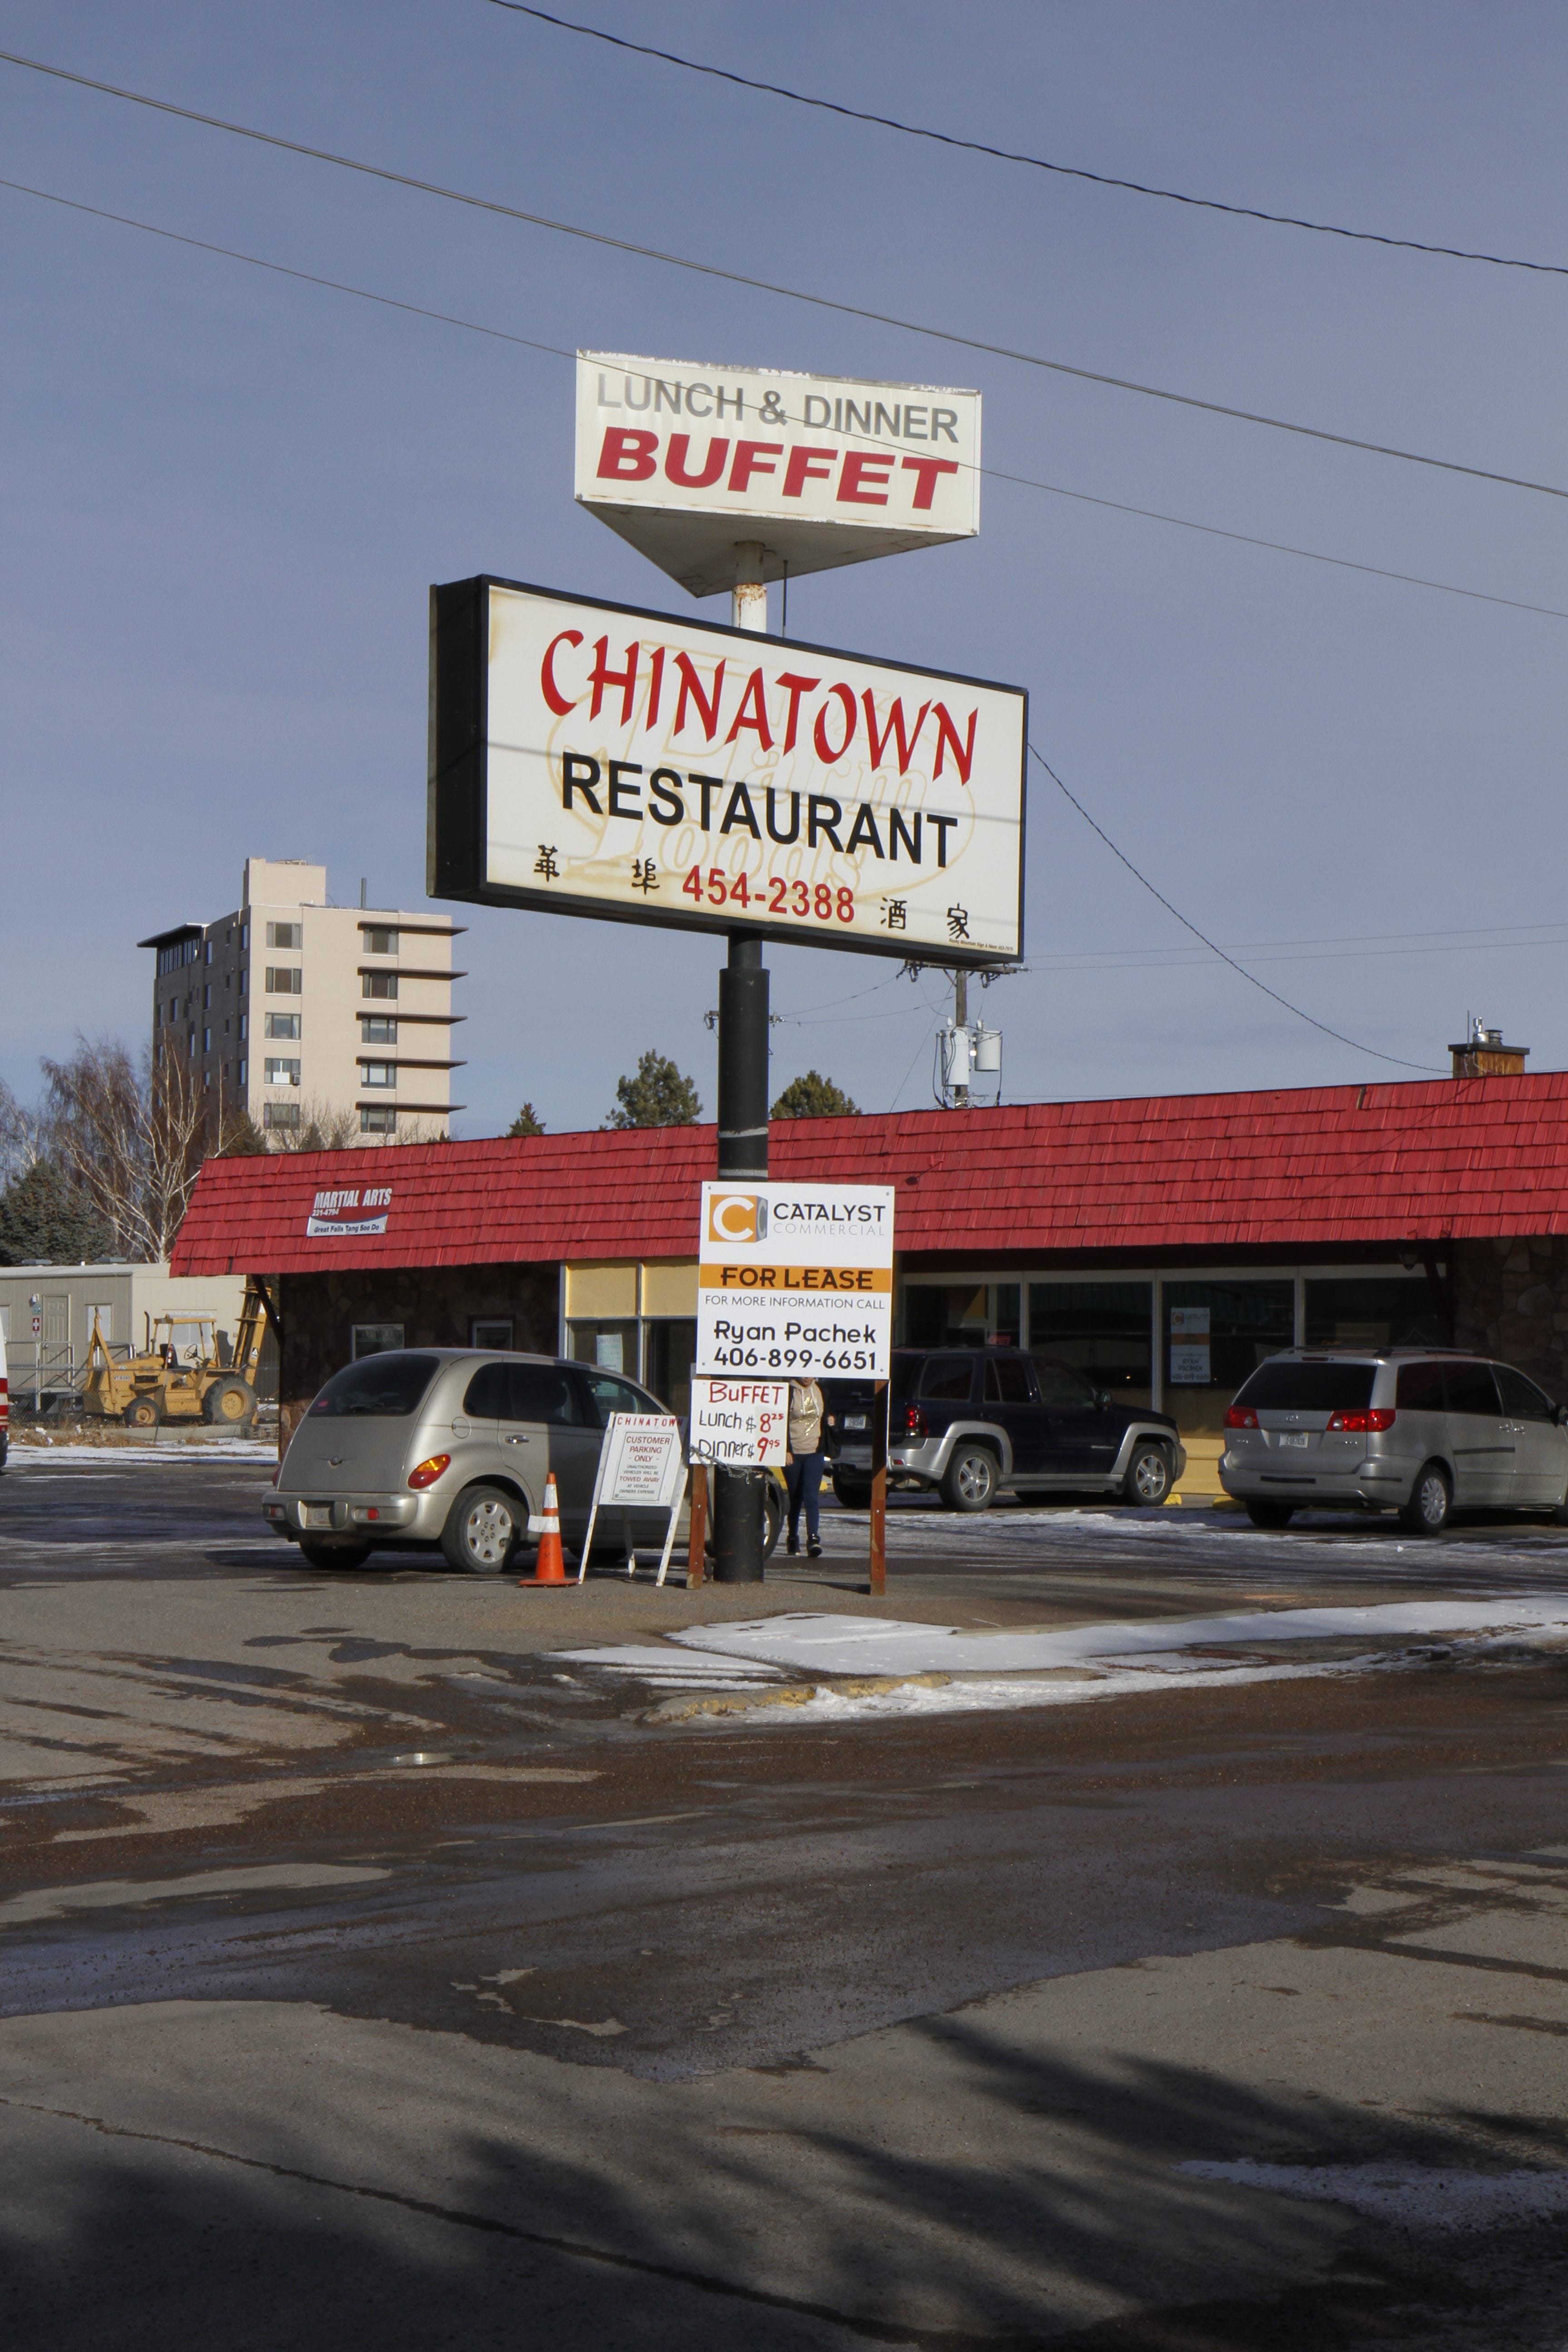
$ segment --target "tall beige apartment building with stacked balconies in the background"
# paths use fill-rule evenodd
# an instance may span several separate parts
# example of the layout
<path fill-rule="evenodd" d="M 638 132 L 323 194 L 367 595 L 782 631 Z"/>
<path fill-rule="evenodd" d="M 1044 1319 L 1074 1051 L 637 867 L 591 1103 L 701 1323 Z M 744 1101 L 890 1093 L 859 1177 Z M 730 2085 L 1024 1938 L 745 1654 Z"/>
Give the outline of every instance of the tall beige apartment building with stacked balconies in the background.
<path fill-rule="evenodd" d="M 153 1051 L 176 1051 L 209 1127 L 247 1110 L 284 1141 L 350 1112 L 357 1141 L 444 1136 L 454 1110 L 451 941 L 463 924 L 329 906 L 327 868 L 247 858 L 240 906 L 136 941 L 158 950 Z"/>

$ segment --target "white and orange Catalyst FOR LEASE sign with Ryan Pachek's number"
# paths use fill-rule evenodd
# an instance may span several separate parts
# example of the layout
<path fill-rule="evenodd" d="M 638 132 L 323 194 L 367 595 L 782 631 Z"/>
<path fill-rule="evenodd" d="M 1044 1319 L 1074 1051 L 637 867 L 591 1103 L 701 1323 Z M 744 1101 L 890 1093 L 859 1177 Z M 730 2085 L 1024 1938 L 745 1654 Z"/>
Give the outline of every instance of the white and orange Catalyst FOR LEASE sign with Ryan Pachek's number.
<path fill-rule="evenodd" d="M 886 1381 L 893 1188 L 705 1183 L 698 1374 Z"/>

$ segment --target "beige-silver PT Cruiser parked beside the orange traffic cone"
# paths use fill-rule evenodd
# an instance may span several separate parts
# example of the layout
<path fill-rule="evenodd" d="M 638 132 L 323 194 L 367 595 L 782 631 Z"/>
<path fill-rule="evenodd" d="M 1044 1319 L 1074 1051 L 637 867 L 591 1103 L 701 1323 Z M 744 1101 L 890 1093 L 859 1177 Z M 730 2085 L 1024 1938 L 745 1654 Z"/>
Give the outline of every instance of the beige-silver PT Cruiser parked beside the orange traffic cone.
<path fill-rule="evenodd" d="M 541 1529 L 545 1475 L 555 1470 L 564 1541 L 581 1543 L 609 1416 L 663 1411 L 597 1364 L 397 1348 L 334 1371 L 261 1508 L 315 1569 L 440 1545 L 454 1569 L 498 1576 Z M 665 1512 L 616 1510 L 607 1550 L 628 1538 L 663 1548 L 665 1529 Z"/>

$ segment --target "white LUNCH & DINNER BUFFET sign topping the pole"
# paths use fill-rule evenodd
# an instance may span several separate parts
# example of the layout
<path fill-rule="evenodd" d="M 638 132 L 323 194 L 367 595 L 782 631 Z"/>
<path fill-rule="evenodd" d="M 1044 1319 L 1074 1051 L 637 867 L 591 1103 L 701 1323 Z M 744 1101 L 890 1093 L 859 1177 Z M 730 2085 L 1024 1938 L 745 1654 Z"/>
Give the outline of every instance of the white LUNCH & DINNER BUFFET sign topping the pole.
<path fill-rule="evenodd" d="M 576 496 L 691 595 L 971 539 L 980 395 L 581 350 Z"/>

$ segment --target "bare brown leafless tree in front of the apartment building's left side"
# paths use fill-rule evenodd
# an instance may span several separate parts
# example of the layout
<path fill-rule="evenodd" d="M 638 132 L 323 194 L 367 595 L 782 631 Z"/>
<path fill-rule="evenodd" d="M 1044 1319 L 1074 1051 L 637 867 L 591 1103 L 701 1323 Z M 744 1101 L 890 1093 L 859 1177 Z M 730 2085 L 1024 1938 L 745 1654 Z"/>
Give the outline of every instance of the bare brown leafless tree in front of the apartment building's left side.
<path fill-rule="evenodd" d="M 73 1190 L 127 1258 L 167 1258 L 207 1150 L 207 1096 L 188 1061 L 150 1049 L 141 1068 L 113 1037 L 42 1061 L 45 1138 Z"/>

